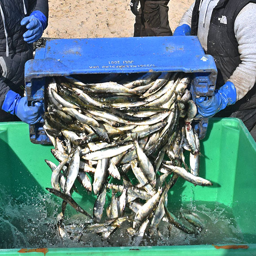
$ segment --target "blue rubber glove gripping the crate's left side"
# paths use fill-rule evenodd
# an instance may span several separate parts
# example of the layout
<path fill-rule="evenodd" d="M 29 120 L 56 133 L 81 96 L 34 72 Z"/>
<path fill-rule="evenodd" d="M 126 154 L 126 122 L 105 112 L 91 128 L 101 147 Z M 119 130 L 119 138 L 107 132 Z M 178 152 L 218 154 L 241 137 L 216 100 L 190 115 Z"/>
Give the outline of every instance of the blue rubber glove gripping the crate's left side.
<path fill-rule="evenodd" d="M 27 124 L 35 124 L 43 120 L 41 117 L 42 103 L 36 102 L 35 106 L 27 105 L 27 98 L 10 90 L 4 99 L 2 110 L 17 115 L 19 119 Z"/>

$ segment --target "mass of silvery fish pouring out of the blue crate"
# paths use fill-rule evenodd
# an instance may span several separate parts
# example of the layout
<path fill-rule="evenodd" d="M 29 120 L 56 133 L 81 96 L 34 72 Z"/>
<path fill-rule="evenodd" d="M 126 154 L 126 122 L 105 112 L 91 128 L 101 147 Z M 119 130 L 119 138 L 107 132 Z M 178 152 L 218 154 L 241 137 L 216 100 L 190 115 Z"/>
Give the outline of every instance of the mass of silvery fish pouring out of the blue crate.
<path fill-rule="evenodd" d="M 212 185 L 199 177 L 199 136 L 191 126 L 197 108 L 189 86 L 182 72 L 110 74 L 90 83 L 86 75 L 52 79 L 44 130 L 58 164 L 45 161 L 52 170 L 47 190 L 63 199 L 57 216 L 62 238 L 67 203 L 88 217 L 81 236 L 93 232 L 105 240 L 128 222 L 124 232 L 138 246 L 161 221 L 189 234 L 202 229 L 197 216 L 178 219 L 168 209 L 168 191 L 178 178 Z M 93 216 L 72 199 L 76 180 L 96 195 Z"/>

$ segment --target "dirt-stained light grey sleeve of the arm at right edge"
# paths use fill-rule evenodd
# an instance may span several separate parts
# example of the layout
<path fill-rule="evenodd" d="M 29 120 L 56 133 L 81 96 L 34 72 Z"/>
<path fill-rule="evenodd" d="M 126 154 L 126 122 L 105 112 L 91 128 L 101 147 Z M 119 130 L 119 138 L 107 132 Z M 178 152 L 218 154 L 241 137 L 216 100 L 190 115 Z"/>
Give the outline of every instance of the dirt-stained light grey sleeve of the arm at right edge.
<path fill-rule="evenodd" d="M 241 54 L 241 64 L 228 81 L 236 88 L 237 100 L 243 98 L 256 82 L 256 4 L 247 4 L 234 22 L 234 33 Z"/>

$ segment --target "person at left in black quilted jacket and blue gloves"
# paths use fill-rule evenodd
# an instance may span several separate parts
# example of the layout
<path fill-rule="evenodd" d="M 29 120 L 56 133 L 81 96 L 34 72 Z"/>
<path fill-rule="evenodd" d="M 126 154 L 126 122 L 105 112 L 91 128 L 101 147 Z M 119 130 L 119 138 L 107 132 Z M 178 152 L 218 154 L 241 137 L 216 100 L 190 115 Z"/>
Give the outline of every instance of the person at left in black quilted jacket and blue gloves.
<path fill-rule="evenodd" d="M 0 122 L 42 119 L 41 103 L 28 106 L 22 96 L 24 65 L 48 25 L 48 12 L 48 0 L 0 0 Z"/>

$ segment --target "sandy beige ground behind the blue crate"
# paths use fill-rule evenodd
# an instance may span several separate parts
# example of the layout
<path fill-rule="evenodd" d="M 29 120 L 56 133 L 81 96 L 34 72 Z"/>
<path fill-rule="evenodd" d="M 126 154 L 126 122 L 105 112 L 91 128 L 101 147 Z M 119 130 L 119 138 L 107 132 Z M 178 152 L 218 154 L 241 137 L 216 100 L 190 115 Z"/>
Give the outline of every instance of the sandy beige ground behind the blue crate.
<path fill-rule="evenodd" d="M 194 0 L 171 0 L 172 31 Z M 130 0 L 49 0 L 49 25 L 43 37 L 96 38 L 133 36 L 135 16 Z"/>

